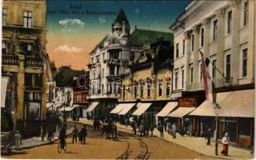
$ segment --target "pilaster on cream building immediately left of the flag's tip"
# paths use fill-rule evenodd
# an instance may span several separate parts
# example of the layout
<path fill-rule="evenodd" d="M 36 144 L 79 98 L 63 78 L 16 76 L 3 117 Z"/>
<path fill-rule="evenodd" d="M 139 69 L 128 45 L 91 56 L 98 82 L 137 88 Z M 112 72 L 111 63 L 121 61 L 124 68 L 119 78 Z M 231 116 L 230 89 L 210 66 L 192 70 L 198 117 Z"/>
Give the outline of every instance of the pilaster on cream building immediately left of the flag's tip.
<path fill-rule="evenodd" d="M 193 71 L 193 74 L 194 74 L 194 83 L 198 83 L 198 70 L 199 70 L 199 66 L 198 66 L 198 58 L 199 58 L 199 29 L 200 29 L 200 26 L 199 25 L 196 25 L 196 26 L 193 26 L 192 30 L 194 32 L 194 71 Z M 197 88 L 194 88 L 193 89 L 197 90 Z"/>

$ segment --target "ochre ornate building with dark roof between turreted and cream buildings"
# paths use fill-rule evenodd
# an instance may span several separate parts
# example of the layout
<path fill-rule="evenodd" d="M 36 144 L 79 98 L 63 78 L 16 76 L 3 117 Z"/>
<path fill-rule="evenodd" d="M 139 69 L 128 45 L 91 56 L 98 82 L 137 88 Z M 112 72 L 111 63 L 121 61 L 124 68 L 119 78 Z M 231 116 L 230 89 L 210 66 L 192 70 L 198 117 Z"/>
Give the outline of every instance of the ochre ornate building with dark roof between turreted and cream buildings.
<path fill-rule="evenodd" d="M 148 32 L 159 33 L 162 34 L 161 39 L 151 38 L 152 43 L 147 42 L 143 46 L 144 50 L 138 59 L 130 60 L 130 72 L 122 75 L 121 97 L 118 98 L 120 104 L 116 106 L 120 110 L 114 109 L 117 111 L 113 111 L 114 114 L 125 117 L 137 115 L 147 119 L 150 124 L 157 124 L 158 113 L 170 98 L 173 65 L 173 34 Z M 146 110 L 138 112 L 133 106 L 138 109 L 143 106 Z"/>

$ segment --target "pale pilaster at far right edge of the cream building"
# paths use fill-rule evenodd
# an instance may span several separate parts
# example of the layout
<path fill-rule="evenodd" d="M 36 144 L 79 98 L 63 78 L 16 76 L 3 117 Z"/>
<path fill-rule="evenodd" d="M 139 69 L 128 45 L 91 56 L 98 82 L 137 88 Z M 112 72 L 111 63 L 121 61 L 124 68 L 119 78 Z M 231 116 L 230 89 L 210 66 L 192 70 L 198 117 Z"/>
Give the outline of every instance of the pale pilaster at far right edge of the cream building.
<path fill-rule="evenodd" d="M 248 21 L 248 51 L 247 51 L 247 79 L 251 83 L 254 82 L 254 69 L 255 69 L 255 2 L 249 2 L 249 21 Z"/>

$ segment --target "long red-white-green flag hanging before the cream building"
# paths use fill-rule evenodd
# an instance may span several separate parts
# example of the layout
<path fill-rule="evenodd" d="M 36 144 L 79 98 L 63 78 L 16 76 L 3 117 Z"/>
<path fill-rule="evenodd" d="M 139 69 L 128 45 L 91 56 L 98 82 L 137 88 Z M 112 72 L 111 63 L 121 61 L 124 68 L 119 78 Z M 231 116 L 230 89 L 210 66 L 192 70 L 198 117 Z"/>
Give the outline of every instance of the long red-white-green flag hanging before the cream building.
<path fill-rule="evenodd" d="M 200 50 L 199 50 L 200 51 Z M 208 66 L 210 60 L 208 58 L 204 58 L 204 55 L 200 51 L 201 58 L 202 58 L 202 76 L 203 76 L 203 83 L 205 86 L 205 91 L 206 91 L 206 99 L 209 100 L 210 102 L 216 102 L 216 89 L 214 86 L 214 82 L 210 78 L 210 74 L 207 72 L 206 67 Z M 207 66 L 206 66 L 207 65 Z M 215 67 L 215 66 L 213 66 Z"/>

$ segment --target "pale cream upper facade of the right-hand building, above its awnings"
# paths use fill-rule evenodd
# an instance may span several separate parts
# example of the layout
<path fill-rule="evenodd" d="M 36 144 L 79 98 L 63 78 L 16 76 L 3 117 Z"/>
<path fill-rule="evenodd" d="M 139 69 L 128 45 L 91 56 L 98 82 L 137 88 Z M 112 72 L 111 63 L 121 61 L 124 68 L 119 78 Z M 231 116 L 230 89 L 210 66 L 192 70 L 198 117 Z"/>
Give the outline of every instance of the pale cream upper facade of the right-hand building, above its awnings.
<path fill-rule="evenodd" d="M 174 30 L 174 70 L 178 73 L 174 92 L 203 90 L 198 50 L 221 72 L 208 66 L 216 87 L 254 82 L 254 10 L 253 1 L 199 1 L 186 7 L 186 12 L 170 26 Z"/>

